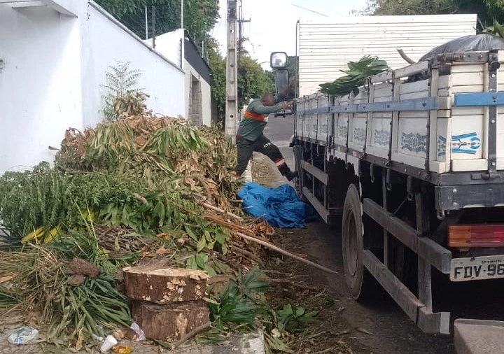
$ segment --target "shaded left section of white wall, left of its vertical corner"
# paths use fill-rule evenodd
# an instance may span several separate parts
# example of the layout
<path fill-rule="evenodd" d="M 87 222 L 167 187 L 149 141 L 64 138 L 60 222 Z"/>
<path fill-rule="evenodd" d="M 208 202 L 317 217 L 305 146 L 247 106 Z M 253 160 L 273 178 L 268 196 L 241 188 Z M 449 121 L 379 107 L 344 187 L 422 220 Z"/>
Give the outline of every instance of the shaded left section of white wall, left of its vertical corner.
<path fill-rule="evenodd" d="M 41 160 L 65 129 L 82 127 L 76 17 L 0 3 L 0 174 Z"/>

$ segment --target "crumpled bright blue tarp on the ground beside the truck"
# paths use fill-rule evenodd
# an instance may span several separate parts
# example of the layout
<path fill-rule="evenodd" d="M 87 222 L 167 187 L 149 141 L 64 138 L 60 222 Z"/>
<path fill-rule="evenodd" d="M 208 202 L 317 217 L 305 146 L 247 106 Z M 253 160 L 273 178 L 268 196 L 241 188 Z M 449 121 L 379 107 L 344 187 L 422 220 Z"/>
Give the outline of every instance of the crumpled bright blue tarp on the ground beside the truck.
<path fill-rule="evenodd" d="M 246 183 L 238 192 L 246 213 L 267 220 L 274 227 L 304 227 L 314 211 L 301 201 L 290 185 L 267 188 L 257 183 Z"/>

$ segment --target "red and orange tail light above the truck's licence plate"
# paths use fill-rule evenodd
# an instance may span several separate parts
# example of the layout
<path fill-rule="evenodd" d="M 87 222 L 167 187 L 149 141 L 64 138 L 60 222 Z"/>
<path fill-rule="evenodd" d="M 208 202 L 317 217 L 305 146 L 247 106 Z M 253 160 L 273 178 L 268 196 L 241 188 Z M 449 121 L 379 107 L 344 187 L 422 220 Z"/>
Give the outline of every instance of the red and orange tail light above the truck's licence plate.
<path fill-rule="evenodd" d="M 504 224 L 488 225 L 450 225 L 448 227 L 448 246 L 504 247 Z"/>

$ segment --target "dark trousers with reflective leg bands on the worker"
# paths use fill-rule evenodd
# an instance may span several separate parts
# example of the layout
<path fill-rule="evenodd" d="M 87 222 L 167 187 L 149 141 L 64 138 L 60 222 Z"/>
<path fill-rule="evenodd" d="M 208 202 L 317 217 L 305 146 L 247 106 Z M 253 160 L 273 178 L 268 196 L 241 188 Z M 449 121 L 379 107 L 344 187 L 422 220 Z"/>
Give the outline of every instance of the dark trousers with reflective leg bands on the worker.
<path fill-rule="evenodd" d="M 269 141 L 264 134 L 261 134 L 256 141 L 250 141 L 242 138 L 241 136 L 237 136 L 236 140 L 237 150 L 238 150 L 238 161 L 237 166 L 235 168 L 235 174 L 237 176 L 241 176 L 244 173 L 248 160 L 251 159 L 252 153 L 255 151 L 257 153 L 261 153 L 262 155 L 266 155 L 271 159 L 278 167 L 282 176 L 286 176 L 290 169 L 287 166 L 285 159 L 281 155 L 279 148 L 277 148 L 274 143 Z"/>

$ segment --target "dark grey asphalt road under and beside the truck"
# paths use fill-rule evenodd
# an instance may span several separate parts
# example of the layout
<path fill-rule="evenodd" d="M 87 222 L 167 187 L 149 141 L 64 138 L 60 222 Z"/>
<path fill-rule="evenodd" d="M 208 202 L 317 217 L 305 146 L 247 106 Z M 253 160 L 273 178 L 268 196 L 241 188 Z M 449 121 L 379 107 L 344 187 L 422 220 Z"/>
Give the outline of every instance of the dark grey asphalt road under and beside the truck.
<path fill-rule="evenodd" d="M 293 124 L 293 116 L 270 116 L 265 129 L 265 135 L 279 146 L 291 169 L 295 164 L 288 143 Z M 282 183 L 286 180 L 276 176 L 274 184 Z M 351 327 L 364 329 L 355 337 L 367 350 L 358 353 L 456 353 L 452 334 L 424 334 L 380 288 L 366 302 L 351 299 L 343 277 L 340 229 L 319 220 L 307 225 L 301 236 L 293 237 L 298 238 L 309 259 L 338 271 L 336 276 L 314 274 L 312 279 L 334 295 Z M 456 318 L 504 320 L 503 290 L 504 281 L 451 283 L 446 276 L 437 276 L 433 279 L 434 310 L 451 312 L 451 325 Z"/>

